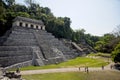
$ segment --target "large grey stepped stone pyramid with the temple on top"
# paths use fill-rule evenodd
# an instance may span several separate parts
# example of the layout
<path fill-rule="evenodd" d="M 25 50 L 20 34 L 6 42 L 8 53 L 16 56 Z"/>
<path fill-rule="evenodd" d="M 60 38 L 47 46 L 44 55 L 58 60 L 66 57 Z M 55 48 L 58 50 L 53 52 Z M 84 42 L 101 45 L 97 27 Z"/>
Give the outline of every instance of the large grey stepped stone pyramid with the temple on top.
<path fill-rule="evenodd" d="M 0 66 L 13 68 L 55 64 L 80 55 L 45 30 L 40 20 L 16 17 L 0 38 Z"/>

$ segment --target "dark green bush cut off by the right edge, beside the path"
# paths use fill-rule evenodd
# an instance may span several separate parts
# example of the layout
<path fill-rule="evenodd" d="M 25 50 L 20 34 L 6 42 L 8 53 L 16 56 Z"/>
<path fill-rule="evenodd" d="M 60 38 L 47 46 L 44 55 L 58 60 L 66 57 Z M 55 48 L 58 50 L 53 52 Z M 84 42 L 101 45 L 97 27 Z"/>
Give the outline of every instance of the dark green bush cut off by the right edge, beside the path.
<path fill-rule="evenodd" d="M 112 59 L 115 62 L 120 62 L 120 43 L 115 47 L 112 52 Z"/>

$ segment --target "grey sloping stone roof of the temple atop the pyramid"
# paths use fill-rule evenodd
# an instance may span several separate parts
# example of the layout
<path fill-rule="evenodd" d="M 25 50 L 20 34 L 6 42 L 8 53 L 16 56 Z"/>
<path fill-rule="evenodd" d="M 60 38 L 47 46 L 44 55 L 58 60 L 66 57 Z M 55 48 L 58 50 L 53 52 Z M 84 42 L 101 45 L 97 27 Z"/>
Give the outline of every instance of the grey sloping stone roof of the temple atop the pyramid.
<path fill-rule="evenodd" d="M 44 23 L 41 20 L 35 20 L 35 19 L 30 19 L 30 18 L 21 17 L 21 16 L 17 16 L 13 21 L 17 21 L 17 20 L 44 25 Z"/>

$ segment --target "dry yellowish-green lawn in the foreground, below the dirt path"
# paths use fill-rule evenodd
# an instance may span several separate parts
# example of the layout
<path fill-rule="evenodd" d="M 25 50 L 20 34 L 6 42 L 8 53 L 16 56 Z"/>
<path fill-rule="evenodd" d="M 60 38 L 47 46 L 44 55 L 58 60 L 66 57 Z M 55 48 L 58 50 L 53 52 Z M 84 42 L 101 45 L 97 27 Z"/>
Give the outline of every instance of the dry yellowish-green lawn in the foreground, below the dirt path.
<path fill-rule="evenodd" d="M 66 72 L 49 73 L 36 75 L 23 75 L 25 80 L 120 80 L 120 72 L 99 71 L 99 72 Z"/>

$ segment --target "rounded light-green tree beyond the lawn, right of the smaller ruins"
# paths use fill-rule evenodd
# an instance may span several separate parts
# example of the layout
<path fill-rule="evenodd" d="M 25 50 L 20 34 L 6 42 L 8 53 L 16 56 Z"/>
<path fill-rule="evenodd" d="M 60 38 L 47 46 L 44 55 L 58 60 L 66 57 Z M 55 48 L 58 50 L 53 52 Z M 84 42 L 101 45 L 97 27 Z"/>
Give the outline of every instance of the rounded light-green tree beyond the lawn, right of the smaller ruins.
<path fill-rule="evenodd" d="M 105 34 L 96 42 L 95 49 L 99 52 L 111 53 L 115 45 L 115 39 L 113 34 Z"/>

